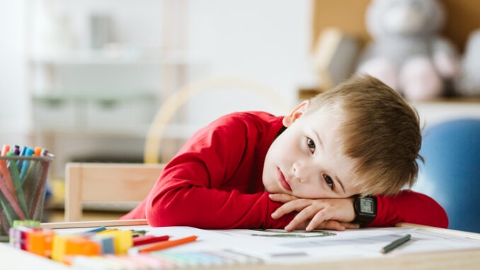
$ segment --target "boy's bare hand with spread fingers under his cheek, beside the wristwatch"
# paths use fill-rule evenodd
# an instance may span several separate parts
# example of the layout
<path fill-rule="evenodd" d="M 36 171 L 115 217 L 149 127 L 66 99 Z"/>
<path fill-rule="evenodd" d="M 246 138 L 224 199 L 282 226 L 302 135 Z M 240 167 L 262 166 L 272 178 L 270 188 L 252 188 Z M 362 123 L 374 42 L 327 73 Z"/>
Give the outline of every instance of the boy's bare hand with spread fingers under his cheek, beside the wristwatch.
<path fill-rule="evenodd" d="M 292 195 L 276 193 L 270 194 L 272 201 L 284 203 L 272 213 L 273 219 L 278 219 L 293 211 L 298 212 L 285 230 L 315 229 L 345 230 L 358 228 L 358 224 L 351 223 L 355 219 L 353 198 L 297 198 Z"/>

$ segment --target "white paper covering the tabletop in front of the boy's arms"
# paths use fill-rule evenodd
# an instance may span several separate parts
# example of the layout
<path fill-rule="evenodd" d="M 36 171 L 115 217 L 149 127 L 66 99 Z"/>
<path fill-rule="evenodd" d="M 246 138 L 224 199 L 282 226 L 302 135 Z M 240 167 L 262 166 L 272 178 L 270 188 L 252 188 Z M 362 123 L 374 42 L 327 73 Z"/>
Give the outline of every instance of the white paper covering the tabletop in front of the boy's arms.
<path fill-rule="evenodd" d="M 130 227 L 120 227 L 129 230 Z M 278 235 L 273 230 L 201 230 L 193 227 L 148 227 L 135 226 L 134 230 L 147 230 L 147 235 L 170 235 L 178 239 L 197 235 L 198 240 L 168 249 L 169 252 L 222 251 L 229 250 L 261 259 L 267 264 L 305 263 L 307 261 L 333 260 L 359 257 L 382 257 L 390 254 L 433 252 L 445 249 L 480 248 L 480 240 L 448 235 L 443 232 L 428 232 L 407 227 L 367 228 L 332 232 L 335 235 L 316 237 L 263 237 Z M 74 229 L 71 229 L 74 230 Z M 72 231 L 68 233 L 72 233 Z M 66 232 L 67 230 L 57 230 Z M 79 229 L 76 229 L 79 232 Z M 67 232 L 66 232 L 67 233 Z M 295 232 L 299 235 L 315 233 Z M 401 235 L 411 234 L 411 241 L 385 255 L 380 249 Z"/>

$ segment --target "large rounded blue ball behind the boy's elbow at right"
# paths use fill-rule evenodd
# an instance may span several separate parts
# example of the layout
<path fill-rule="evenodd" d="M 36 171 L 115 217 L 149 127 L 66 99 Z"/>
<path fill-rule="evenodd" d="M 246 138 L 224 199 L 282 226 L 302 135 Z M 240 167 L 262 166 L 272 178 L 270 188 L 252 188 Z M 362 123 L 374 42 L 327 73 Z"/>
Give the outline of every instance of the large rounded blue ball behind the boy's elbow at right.
<path fill-rule="evenodd" d="M 480 119 L 448 120 L 423 135 L 414 190 L 445 208 L 450 229 L 480 232 Z"/>

